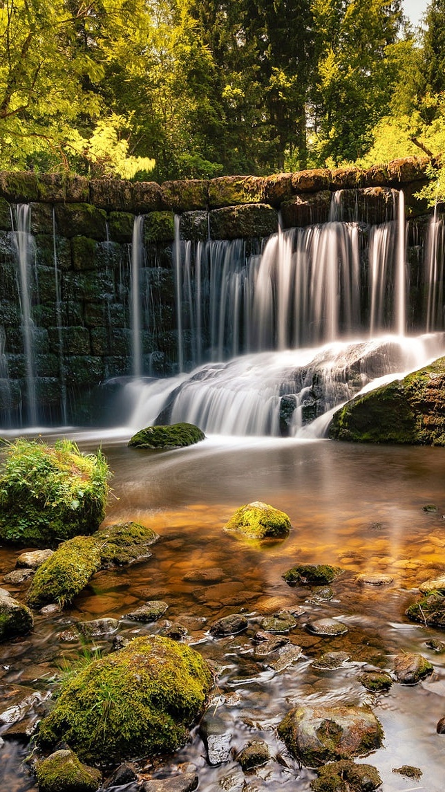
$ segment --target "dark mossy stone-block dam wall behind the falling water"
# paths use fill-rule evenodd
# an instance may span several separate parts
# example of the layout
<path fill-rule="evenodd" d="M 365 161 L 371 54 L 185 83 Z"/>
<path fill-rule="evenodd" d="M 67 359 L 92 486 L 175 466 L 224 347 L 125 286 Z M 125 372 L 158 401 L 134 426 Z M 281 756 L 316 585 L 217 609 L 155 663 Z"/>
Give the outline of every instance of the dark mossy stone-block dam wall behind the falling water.
<path fill-rule="evenodd" d="M 0 426 L 29 423 L 31 400 L 39 422 L 86 421 L 91 389 L 134 373 L 136 216 L 144 215 L 137 297 L 142 373 L 169 375 L 178 369 L 178 348 L 190 366 L 196 332 L 187 317 L 187 284 L 178 289 L 175 277 L 175 215 L 176 235 L 188 246 L 193 268 L 200 242 L 243 240 L 241 255 L 247 256 L 279 223 L 284 230 L 325 223 L 339 191 L 336 219 L 384 223 L 394 217 L 394 190 L 402 190 L 415 292 L 428 221 L 428 208 L 415 193 L 427 181 L 427 166 L 426 158 L 408 158 L 367 171 L 318 169 L 163 185 L 0 173 Z M 20 204 L 30 208 L 25 272 L 18 254 Z M 210 343 L 206 337 L 203 348 L 208 351 Z"/>

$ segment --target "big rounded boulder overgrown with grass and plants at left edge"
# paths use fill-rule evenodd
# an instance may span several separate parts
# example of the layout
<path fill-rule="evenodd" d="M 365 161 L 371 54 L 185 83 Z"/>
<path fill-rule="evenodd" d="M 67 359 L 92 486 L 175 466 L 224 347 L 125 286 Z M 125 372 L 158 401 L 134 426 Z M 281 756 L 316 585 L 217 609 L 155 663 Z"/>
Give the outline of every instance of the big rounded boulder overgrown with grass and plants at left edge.
<path fill-rule="evenodd" d="M 0 474 L 0 539 L 21 546 L 54 547 L 91 534 L 104 519 L 110 471 L 101 451 L 16 440 Z"/>

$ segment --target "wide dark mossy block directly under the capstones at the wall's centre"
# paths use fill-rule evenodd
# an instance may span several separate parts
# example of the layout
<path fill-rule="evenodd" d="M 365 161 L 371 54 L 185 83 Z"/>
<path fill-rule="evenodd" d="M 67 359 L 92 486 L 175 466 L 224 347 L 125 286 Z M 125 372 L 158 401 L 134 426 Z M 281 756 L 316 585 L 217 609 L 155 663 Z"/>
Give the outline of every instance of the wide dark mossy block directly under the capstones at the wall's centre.
<path fill-rule="evenodd" d="M 214 209 L 210 213 L 212 239 L 268 237 L 278 230 L 278 214 L 268 204 L 245 204 Z"/>

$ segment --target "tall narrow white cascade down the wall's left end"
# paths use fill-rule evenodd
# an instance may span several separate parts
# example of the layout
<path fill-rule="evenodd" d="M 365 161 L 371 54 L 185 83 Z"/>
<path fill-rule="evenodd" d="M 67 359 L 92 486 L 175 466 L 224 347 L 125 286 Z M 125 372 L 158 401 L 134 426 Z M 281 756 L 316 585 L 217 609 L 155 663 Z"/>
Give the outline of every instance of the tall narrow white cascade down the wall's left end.
<path fill-rule="evenodd" d="M 12 216 L 12 222 L 14 221 Z M 34 325 L 31 315 L 32 272 L 31 272 L 31 210 L 28 204 L 17 204 L 13 241 L 17 252 L 18 293 L 21 306 L 21 333 L 25 352 L 26 401 L 30 425 L 37 423 L 36 376 L 34 351 Z"/>

